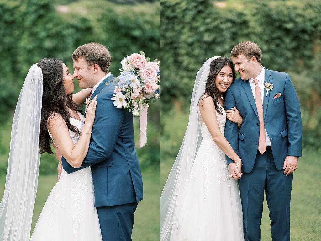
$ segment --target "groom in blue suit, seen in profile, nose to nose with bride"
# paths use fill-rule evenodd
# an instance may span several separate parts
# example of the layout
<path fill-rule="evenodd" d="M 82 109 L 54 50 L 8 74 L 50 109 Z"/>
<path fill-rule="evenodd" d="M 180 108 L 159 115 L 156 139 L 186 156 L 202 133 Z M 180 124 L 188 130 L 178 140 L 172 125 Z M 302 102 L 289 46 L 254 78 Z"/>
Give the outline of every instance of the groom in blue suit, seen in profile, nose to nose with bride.
<path fill-rule="evenodd" d="M 67 173 L 91 166 L 102 240 L 128 241 L 131 240 L 134 212 L 143 199 L 133 114 L 113 105 L 111 98 L 116 84 L 109 73 L 111 58 L 104 46 L 84 44 L 74 51 L 72 59 L 79 87 L 91 87 L 90 97 L 97 94 L 98 97 L 89 150 L 82 166 L 74 168 L 64 157 L 62 164 Z"/>

